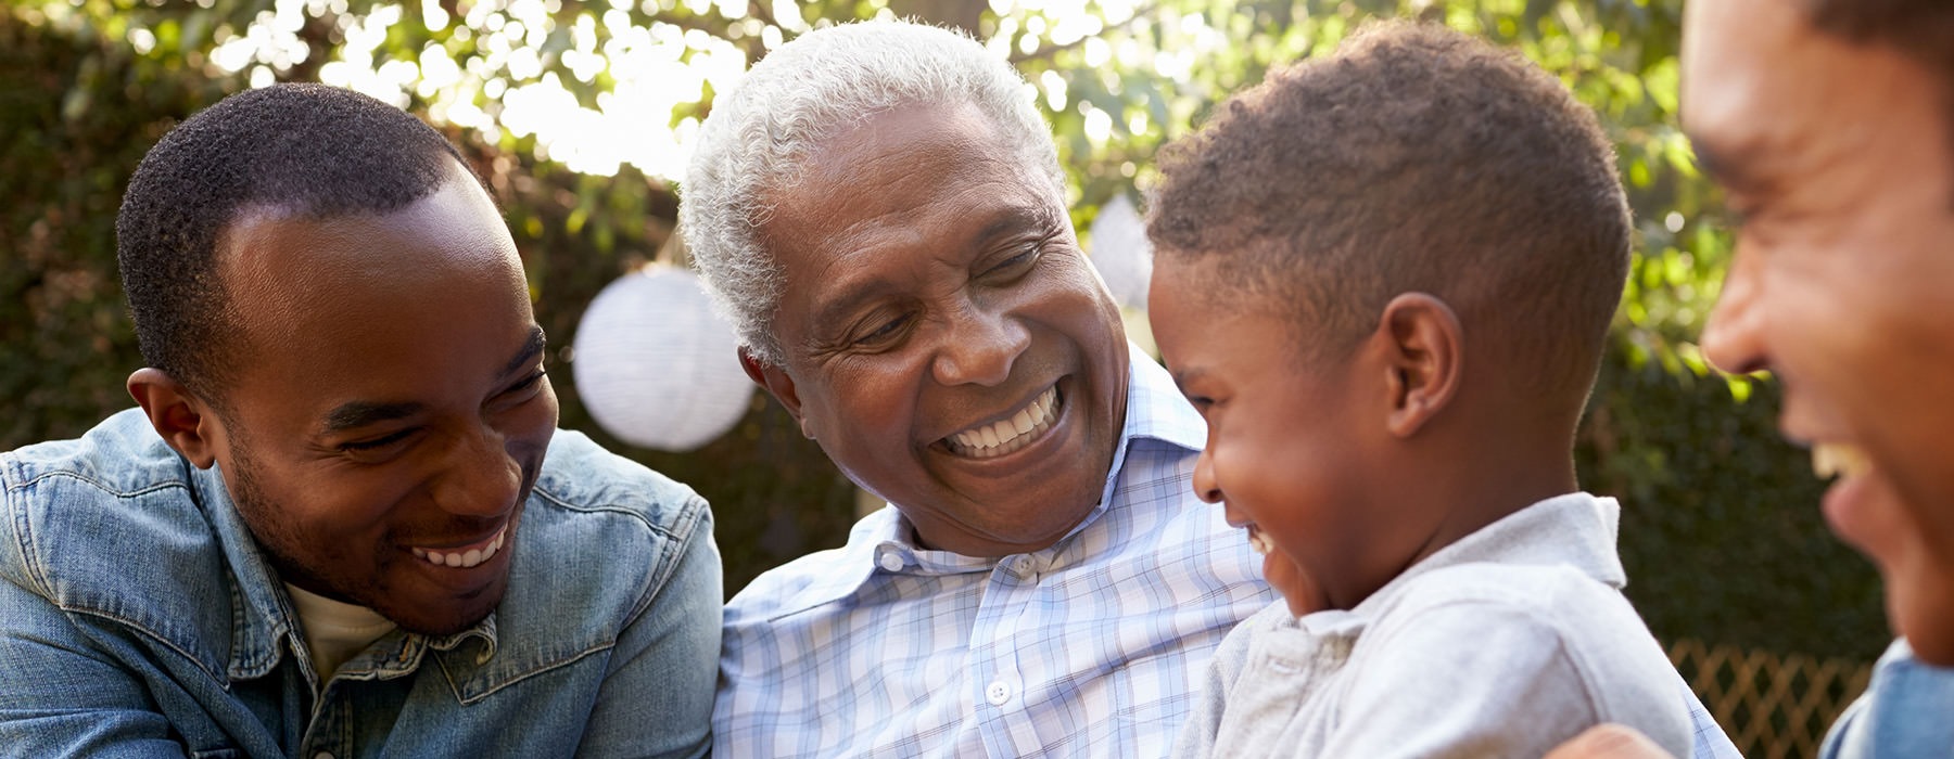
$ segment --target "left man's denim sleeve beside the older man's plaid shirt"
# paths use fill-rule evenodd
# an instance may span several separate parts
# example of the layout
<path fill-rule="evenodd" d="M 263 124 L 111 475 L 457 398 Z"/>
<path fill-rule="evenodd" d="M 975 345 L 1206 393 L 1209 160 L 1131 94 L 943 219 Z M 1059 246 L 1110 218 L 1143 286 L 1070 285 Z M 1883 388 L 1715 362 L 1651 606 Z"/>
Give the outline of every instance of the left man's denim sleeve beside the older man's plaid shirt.
<path fill-rule="evenodd" d="M 700 511 L 670 578 L 612 650 L 578 757 L 703 757 L 711 747 L 725 595 L 711 511 Z"/>

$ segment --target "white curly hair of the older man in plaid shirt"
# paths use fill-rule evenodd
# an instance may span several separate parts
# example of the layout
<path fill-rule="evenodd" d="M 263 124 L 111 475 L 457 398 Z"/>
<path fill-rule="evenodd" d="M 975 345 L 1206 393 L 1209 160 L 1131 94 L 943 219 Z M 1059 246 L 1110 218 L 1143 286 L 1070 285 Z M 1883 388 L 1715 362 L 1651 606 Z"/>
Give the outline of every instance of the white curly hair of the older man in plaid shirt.
<path fill-rule="evenodd" d="M 680 185 L 678 226 L 746 351 L 782 365 L 774 314 L 786 281 L 758 232 L 774 193 L 801 180 L 823 140 L 903 105 L 969 103 L 1063 207 L 1065 174 L 1034 98 L 1010 62 L 959 31 L 860 21 L 795 37 L 713 100 Z"/>

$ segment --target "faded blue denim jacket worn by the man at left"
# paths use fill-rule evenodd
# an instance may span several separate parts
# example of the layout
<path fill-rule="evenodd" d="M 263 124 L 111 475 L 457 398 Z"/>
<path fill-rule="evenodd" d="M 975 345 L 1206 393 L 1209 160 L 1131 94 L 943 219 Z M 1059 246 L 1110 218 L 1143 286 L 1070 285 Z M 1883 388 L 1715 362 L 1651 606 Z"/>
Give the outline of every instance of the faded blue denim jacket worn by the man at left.
<path fill-rule="evenodd" d="M 0 455 L 0 755 L 701 755 L 719 554 L 692 490 L 559 431 L 502 603 L 315 687 L 234 511 L 137 412 Z"/>

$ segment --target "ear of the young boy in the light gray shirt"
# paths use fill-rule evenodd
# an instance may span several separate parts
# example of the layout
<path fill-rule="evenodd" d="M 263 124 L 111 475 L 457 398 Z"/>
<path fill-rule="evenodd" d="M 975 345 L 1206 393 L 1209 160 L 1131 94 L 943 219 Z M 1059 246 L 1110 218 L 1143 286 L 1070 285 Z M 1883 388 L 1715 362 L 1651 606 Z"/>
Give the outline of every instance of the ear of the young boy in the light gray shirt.
<path fill-rule="evenodd" d="M 1444 300 L 1401 293 L 1383 306 L 1378 324 L 1389 377 L 1391 435 L 1411 437 L 1458 394 L 1464 377 L 1466 332 Z"/>

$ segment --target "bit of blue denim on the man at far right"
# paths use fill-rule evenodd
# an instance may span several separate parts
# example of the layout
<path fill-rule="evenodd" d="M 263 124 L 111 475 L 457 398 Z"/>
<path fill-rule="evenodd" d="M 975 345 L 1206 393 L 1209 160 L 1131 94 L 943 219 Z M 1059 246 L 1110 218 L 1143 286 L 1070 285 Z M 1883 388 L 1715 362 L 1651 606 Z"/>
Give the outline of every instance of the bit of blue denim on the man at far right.
<path fill-rule="evenodd" d="M 1954 667 L 1934 667 L 1893 640 L 1866 693 L 1847 706 L 1821 759 L 1954 757 Z"/>

